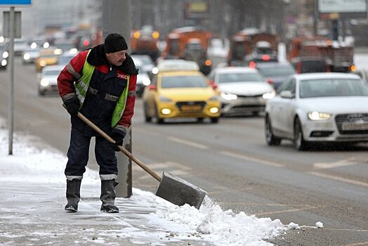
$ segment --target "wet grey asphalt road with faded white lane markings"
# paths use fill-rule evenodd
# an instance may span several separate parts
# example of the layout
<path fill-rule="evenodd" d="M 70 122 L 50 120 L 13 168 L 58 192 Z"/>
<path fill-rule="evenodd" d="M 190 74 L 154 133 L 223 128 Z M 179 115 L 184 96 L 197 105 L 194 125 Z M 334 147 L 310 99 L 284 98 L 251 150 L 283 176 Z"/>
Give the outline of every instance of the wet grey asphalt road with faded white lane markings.
<path fill-rule="evenodd" d="M 37 95 L 34 65 L 15 60 L 15 131 L 26 131 L 66 153 L 70 123 L 58 96 Z M 8 72 L 0 72 L 0 117 L 8 114 Z M 289 141 L 268 147 L 263 118 L 210 122 L 143 121 L 133 117 L 133 154 L 152 169 L 170 171 L 206 190 L 223 209 L 294 222 L 300 230 L 276 245 L 368 245 L 367 144 L 298 152 Z M 41 148 L 41 146 L 40 146 Z M 90 167 L 96 168 L 91 156 Z M 155 191 L 157 181 L 133 164 L 133 186 Z M 324 228 L 317 229 L 321 221 Z"/>

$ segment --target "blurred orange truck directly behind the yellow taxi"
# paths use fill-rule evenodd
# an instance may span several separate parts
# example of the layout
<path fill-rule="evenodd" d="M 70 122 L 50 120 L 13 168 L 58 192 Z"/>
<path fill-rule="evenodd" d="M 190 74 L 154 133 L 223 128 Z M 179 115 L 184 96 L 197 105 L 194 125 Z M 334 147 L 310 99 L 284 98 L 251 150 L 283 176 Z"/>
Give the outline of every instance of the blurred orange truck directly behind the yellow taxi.
<path fill-rule="evenodd" d="M 195 61 L 199 70 L 208 75 L 212 64 L 207 56 L 211 37 L 211 32 L 196 27 L 176 28 L 166 35 L 166 48 L 162 58 Z"/>

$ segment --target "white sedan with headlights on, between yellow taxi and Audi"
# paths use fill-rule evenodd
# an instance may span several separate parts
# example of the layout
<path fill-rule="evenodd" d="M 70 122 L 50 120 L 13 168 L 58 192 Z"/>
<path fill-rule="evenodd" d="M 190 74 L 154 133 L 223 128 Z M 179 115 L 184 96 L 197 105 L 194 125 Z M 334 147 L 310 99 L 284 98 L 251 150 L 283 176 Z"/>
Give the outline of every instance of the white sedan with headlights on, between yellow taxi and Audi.
<path fill-rule="evenodd" d="M 221 115 L 258 115 L 275 90 L 258 70 L 250 67 L 216 67 L 208 75 L 220 91 Z"/>

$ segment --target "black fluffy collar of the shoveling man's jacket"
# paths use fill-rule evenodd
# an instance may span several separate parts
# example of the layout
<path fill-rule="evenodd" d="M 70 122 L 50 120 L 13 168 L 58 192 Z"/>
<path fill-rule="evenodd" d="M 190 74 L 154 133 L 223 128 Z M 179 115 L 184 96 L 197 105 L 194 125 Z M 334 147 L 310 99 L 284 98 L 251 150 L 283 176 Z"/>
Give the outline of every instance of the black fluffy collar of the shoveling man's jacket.
<path fill-rule="evenodd" d="M 94 46 L 93 48 L 91 48 L 91 52 L 88 54 L 87 62 L 93 66 L 110 66 L 110 63 L 107 61 L 106 58 L 103 44 L 99 44 L 98 46 Z M 128 54 L 126 54 L 126 59 L 124 60 L 123 64 L 121 64 L 117 68 L 122 72 L 125 72 L 127 75 L 138 75 L 136 65 L 134 65 L 133 59 Z"/>

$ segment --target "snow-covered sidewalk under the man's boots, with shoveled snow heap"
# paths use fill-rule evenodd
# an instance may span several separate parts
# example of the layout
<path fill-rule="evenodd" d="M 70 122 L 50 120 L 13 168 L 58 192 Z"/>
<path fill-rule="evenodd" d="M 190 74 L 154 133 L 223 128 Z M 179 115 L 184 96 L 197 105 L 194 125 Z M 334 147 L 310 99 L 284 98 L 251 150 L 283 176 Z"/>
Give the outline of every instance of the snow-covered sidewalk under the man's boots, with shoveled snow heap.
<path fill-rule="evenodd" d="M 5 125 L 0 119 L 0 245 L 271 245 L 267 238 L 287 230 L 278 219 L 223 211 L 208 197 L 197 210 L 137 188 L 131 198 L 117 198 L 119 214 L 105 214 L 91 169 L 79 212 L 67 213 L 65 155 L 16 132 L 9 156 Z"/>

